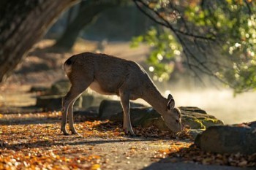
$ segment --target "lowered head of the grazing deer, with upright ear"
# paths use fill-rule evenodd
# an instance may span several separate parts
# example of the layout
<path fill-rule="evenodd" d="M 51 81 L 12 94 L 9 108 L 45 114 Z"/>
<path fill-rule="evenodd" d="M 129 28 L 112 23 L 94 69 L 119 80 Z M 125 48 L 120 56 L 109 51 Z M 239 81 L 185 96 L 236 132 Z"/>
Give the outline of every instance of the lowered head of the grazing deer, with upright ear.
<path fill-rule="evenodd" d="M 165 125 L 170 128 L 170 131 L 177 133 L 182 131 L 181 111 L 175 107 L 173 96 L 169 94 L 167 100 L 166 110 L 165 113 L 162 114 L 162 119 L 165 120 Z"/>

